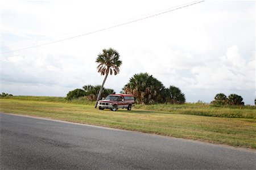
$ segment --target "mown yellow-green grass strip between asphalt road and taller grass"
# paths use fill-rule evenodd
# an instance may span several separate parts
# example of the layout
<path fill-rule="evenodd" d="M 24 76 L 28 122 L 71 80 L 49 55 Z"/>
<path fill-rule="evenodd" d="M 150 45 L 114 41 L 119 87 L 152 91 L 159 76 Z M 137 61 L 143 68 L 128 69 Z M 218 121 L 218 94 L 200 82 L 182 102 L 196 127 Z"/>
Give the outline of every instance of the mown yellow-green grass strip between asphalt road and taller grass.
<path fill-rule="evenodd" d="M 177 111 L 168 112 L 148 111 L 139 107 L 133 108 L 132 111 L 118 109 L 117 112 L 113 112 L 107 109 L 104 111 L 94 109 L 93 105 L 61 103 L 59 101 L 0 99 L 1 113 L 46 117 L 256 149 L 255 118 L 224 118 L 183 114 L 183 111 L 179 111 L 179 109 L 185 110 L 186 108 L 182 107 L 184 106 L 176 108 Z M 172 109 L 175 110 L 175 107 Z M 251 110 L 255 112 L 254 109 Z"/>

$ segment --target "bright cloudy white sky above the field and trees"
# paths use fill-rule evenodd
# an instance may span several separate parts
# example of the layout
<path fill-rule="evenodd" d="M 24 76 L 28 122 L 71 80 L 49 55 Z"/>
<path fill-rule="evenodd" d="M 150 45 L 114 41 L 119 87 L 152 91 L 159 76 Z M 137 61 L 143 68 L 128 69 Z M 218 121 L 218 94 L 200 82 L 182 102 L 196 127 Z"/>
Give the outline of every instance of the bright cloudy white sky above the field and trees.
<path fill-rule="evenodd" d="M 3 0 L 0 92 L 66 96 L 101 84 L 96 58 L 114 48 L 123 64 L 105 88 L 116 93 L 147 72 L 190 103 L 224 93 L 253 105 L 255 1 L 184 7 L 195 2 Z"/>

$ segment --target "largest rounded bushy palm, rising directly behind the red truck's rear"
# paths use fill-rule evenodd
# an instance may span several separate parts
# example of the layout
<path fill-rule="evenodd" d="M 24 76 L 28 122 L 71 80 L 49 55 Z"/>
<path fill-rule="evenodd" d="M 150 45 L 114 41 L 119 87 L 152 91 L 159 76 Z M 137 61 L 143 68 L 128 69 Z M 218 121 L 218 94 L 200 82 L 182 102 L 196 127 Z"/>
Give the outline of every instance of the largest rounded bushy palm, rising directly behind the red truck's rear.
<path fill-rule="evenodd" d="M 164 86 L 152 75 L 139 73 L 130 78 L 123 91 L 125 94 L 133 94 L 136 103 L 160 103 L 163 100 Z"/>

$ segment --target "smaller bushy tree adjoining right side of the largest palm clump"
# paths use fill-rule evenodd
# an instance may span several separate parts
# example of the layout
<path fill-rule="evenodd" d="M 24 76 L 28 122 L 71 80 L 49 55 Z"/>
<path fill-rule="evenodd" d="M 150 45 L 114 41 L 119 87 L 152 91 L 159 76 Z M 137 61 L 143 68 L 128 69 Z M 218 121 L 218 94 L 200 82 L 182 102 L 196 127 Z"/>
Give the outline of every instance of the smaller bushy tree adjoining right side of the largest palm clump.
<path fill-rule="evenodd" d="M 181 92 L 180 88 L 170 86 L 166 88 L 166 102 L 171 104 L 184 104 L 186 101 L 185 95 Z"/>

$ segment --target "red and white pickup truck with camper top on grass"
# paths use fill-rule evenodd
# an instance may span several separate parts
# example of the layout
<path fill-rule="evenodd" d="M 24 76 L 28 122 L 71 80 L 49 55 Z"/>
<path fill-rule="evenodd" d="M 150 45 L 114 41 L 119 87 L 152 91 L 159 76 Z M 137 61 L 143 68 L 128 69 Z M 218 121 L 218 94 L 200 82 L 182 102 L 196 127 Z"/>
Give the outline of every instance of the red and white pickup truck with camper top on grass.
<path fill-rule="evenodd" d="M 115 94 L 108 95 L 106 99 L 98 101 L 98 108 L 100 110 L 111 109 L 112 111 L 117 111 L 119 108 L 127 108 L 127 111 L 131 111 L 131 107 L 134 106 L 134 96 Z"/>

